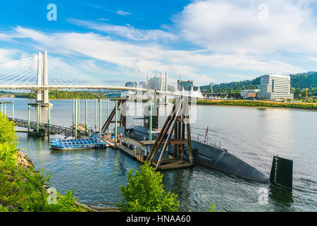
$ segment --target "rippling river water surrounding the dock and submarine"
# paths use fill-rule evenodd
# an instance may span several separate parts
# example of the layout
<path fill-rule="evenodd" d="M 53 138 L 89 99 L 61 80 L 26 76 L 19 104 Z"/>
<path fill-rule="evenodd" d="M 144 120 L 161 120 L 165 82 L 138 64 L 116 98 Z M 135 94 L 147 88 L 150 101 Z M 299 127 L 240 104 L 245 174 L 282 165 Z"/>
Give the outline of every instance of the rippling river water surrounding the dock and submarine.
<path fill-rule="evenodd" d="M 14 117 L 27 119 L 27 100 L 14 101 Z M 51 100 L 51 124 L 72 124 L 72 100 Z M 88 100 L 88 125 L 94 127 L 94 100 Z M 113 107 L 110 102 L 110 108 Z M 85 102 L 81 102 L 81 123 L 85 121 Z M 142 107 L 137 107 L 142 108 Z M 264 174 L 271 171 L 273 155 L 294 161 L 293 191 L 271 184 L 249 182 L 197 165 L 191 169 L 163 171 L 165 188 L 178 194 L 181 211 L 207 211 L 214 204 L 220 211 L 316 211 L 317 210 L 317 112 L 306 109 L 197 106 L 192 137 L 202 139 L 209 126 L 208 141 Z M 11 117 L 11 106 L 6 106 Z M 47 110 L 42 109 L 42 122 Z M 106 120 L 103 100 L 102 121 Z M 35 109 L 31 109 L 35 120 Z M 142 124 L 128 119 L 128 124 Z M 159 124 L 163 119 L 159 120 Z M 99 122 L 97 121 L 97 124 Z M 21 130 L 21 129 L 19 129 Z M 35 168 L 51 172 L 51 186 L 61 194 L 75 189 L 81 203 L 118 202 L 126 173 L 139 169 L 139 163 L 119 150 L 70 150 L 49 148 L 49 139 L 18 133 L 19 148 L 35 162 Z M 260 194 L 259 189 L 267 191 Z M 267 197 L 267 198 L 266 198 Z"/>

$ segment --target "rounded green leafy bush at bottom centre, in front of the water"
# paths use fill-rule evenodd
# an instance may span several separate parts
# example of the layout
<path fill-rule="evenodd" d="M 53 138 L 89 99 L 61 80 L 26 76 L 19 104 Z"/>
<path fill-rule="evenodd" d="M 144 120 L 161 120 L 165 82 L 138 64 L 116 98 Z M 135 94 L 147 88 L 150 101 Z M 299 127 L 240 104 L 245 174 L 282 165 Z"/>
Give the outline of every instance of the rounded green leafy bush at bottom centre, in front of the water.
<path fill-rule="evenodd" d="M 163 189 L 163 175 L 155 172 L 149 162 L 144 162 L 139 171 L 130 169 L 128 184 L 121 186 L 123 201 L 118 208 L 125 212 L 175 212 L 180 207 L 177 195 Z"/>

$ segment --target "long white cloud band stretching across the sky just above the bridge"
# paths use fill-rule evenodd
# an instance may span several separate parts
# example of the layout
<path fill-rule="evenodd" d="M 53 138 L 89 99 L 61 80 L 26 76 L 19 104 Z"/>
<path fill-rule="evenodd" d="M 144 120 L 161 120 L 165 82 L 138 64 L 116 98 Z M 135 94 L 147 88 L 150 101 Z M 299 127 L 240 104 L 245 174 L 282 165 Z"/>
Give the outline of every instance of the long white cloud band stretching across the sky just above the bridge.
<path fill-rule="evenodd" d="M 246 54 L 213 53 L 168 49 L 159 44 L 130 44 L 112 40 L 93 32 L 44 33 L 28 28 L 15 28 L 16 37 L 31 39 L 39 49 L 69 55 L 84 55 L 118 66 L 120 71 L 133 77 L 168 71 L 170 75 L 182 74 L 182 78 L 194 78 L 199 85 L 208 79 L 201 73 L 213 69 L 258 71 L 259 73 L 293 73 L 299 68 L 281 61 L 249 57 Z"/>

